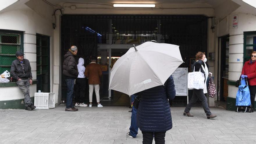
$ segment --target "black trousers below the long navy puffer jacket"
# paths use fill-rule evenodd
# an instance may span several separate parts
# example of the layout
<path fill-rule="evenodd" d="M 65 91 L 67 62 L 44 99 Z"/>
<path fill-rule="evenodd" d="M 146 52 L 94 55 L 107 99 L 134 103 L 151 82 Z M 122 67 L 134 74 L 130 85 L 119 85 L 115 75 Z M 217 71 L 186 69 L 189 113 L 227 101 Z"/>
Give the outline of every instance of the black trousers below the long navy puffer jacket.
<path fill-rule="evenodd" d="M 143 135 L 143 144 L 152 144 L 153 142 L 153 135 L 155 136 L 155 144 L 165 144 L 165 132 L 145 132 L 141 131 Z"/>

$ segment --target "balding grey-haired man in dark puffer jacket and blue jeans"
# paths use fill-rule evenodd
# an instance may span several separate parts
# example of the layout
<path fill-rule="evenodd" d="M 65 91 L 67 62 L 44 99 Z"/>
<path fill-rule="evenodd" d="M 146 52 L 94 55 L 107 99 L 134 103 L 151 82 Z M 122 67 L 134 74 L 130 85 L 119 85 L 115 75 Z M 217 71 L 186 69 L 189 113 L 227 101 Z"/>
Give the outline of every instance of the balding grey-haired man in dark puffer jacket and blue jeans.
<path fill-rule="evenodd" d="M 75 61 L 74 56 L 77 55 L 77 47 L 72 46 L 68 52 L 64 55 L 64 61 L 62 64 L 63 75 L 67 83 L 67 98 L 66 98 L 66 109 L 65 111 L 78 111 L 74 108 L 72 97 L 74 91 L 74 82 L 78 76 L 77 62 Z"/>

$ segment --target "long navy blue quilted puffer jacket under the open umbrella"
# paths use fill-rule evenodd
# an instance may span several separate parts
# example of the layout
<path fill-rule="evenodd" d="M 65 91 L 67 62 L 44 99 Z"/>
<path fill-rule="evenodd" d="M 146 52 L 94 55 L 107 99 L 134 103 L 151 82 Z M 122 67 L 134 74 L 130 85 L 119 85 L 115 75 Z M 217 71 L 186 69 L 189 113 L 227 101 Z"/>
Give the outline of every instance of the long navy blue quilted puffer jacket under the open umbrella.
<path fill-rule="evenodd" d="M 141 131 L 164 132 L 173 127 L 169 100 L 176 95 L 172 75 L 164 86 L 144 90 L 141 95 L 137 124 Z"/>

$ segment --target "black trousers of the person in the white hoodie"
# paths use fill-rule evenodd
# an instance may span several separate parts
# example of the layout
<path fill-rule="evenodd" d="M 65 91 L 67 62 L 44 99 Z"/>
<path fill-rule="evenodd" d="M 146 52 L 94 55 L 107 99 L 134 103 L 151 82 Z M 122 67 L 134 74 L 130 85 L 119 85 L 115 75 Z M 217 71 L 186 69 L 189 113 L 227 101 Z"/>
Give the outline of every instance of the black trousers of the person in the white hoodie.
<path fill-rule="evenodd" d="M 85 78 L 76 78 L 76 102 L 83 103 L 85 94 Z"/>

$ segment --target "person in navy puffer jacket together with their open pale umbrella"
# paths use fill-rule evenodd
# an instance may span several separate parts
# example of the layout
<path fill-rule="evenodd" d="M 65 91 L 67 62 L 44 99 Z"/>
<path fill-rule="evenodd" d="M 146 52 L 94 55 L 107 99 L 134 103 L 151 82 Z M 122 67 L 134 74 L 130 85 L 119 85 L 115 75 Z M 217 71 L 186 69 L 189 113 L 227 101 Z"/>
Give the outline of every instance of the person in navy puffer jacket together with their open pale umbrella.
<path fill-rule="evenodd" d="M 168 99 L 174 99 L 176 92 L 171 74 L 184 62 L 177 45 L 144 42 L 133 46 L 111 69 L 109 89 L 127 95 L 142 92 L 137 124 L 143 144 L 152 143 L 153 135 L 162 144 L 172 128 Z"/>

